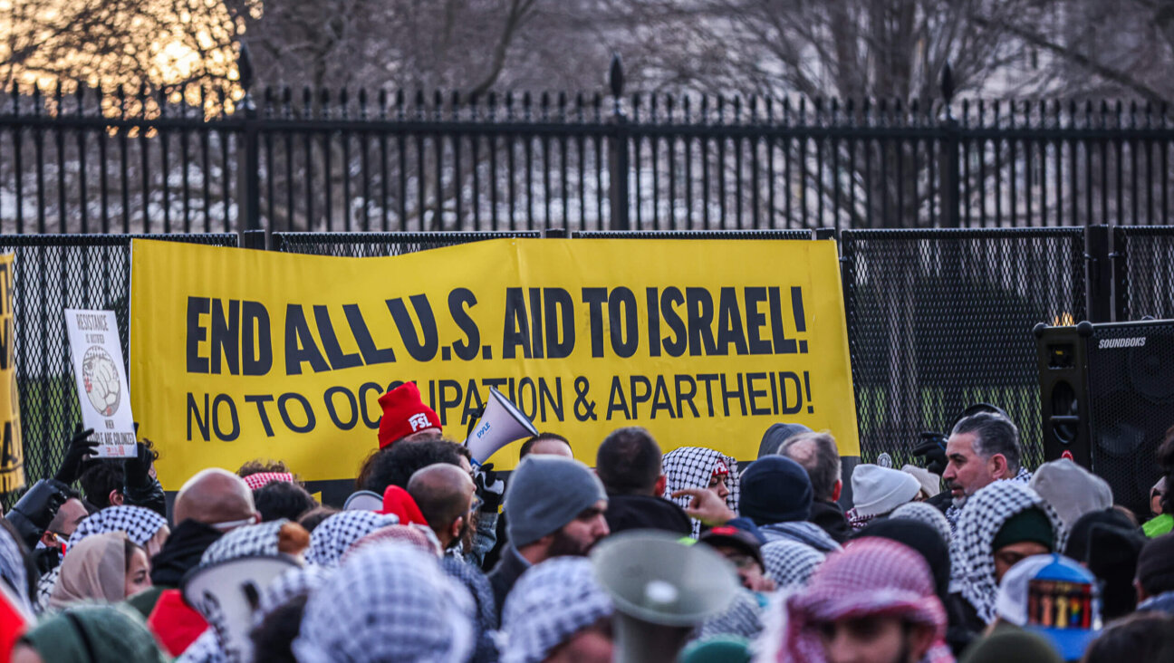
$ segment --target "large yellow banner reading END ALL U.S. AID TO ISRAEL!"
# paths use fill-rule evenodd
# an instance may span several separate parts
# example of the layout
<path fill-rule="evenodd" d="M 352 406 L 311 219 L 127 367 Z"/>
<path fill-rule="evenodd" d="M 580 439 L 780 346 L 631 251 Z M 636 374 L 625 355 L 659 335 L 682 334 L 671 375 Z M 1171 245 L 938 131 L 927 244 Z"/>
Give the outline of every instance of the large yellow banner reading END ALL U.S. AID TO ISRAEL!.
<path fill-rule="evenodd" d="M 621 426 L 753 459 L 777 421 L 858 455 L 830 241 L 498 239 L 335 258 L 136 239 L 130 391 L 160 480 L 284 460 L 349 479 L 378 397 L 416 381 L 446 435 L 497 387 L 593 465 Z M 492 461 L 512 467 L 515 448 Z"/>

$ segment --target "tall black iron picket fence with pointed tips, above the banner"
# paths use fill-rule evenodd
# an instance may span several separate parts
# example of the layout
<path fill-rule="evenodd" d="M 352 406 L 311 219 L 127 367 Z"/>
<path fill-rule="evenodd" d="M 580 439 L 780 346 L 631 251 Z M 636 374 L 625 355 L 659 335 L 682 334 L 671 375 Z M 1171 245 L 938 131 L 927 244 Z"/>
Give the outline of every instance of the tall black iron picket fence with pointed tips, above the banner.
<path fill-rule="evenodd" d="M 1169 223 L 1165 106 L 626 96 L 621 79 L 608 95 L 265 88 L 239 102 L 14 87 L 0 94 L 0 229 Z"/>

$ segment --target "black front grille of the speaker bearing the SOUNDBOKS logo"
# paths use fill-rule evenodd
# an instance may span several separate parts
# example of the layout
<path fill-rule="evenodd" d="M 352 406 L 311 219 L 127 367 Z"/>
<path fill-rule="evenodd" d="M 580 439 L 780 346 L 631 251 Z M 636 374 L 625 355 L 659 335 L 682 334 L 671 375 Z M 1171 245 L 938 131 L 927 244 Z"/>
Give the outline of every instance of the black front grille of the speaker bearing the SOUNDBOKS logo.
<path fill-rule="evenodd" d="M 1116 503 L 1148 515 L 1154 452 L 1174 425 L 1174 323 L 1098 325 L 1088 339 L 1093 471 Z"/>

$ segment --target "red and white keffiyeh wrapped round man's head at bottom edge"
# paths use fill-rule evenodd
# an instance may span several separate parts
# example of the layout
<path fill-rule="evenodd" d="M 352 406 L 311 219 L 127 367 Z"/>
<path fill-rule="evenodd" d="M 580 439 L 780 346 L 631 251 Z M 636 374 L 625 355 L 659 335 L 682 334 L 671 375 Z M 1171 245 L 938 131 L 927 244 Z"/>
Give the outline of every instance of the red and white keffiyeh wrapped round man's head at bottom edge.
<path fill-rule="evenodd" d="M 780 663 L 824 663 L 817 625 L 868 615 L 896 616 L 933 627 L 925 663 L 953 663 L 945 644 L 946 611 L 933 591 L 933 575 L 913 549 L 878 537 L 852 541 L 816 569 L 807 588 L 787 600 L 787 631 Z"/>

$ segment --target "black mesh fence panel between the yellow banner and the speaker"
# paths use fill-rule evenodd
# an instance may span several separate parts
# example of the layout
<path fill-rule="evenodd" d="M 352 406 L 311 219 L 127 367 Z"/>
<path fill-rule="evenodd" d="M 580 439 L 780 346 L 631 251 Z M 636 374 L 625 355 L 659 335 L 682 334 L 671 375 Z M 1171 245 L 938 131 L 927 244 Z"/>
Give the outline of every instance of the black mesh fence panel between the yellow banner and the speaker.
<path fill-rule="evenodd" d="M 841 250 L 862 460 L 908 462 L 987 401 L 1041 462 L 1032 326 L 1085 319 L 1082 229 L 844 231 Z"/>

